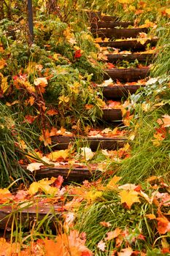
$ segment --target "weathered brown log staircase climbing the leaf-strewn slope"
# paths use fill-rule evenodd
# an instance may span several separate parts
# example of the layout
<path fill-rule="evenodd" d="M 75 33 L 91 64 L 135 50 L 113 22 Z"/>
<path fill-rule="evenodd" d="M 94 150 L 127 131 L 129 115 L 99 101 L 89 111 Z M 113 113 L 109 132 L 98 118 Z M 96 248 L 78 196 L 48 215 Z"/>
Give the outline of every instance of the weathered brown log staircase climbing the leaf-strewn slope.
<path fill-rule="evenodd" d="M 90 19 L 91 33 L 96 38 L 96 42 L 101 48 L 109 50 L 109 53 L 106 54 L 106 66 L 108 64 L 108 68 L 104 69 L 104 80 L 112 78 L 113 82 L 110 80 L 111 82 L 107 86 L 101 84 L 98 86 L 98 89 L 102 89 L 106 102 L 112 100 L 117 102 L 118 105 L 118 102 L 125 100 L 129 94 L 134 94 L 141 86 L 144 86 L 144 82 L 142 83 L 141 80 L 147 79 L 150 75 L 149 65 L 152 59 L 155 58 L 155 53 L 148 53 L 148 51 L 145 53 L 145 50 L 148 45 L 151 48 L 155 47 L 158 39 L 147 38 L 144 33 L 148 33 L 148 28 L 132 27 L 134 23 L 131 22 L 120 22 L 117 18 L 101 15 L 100 12 L 88 12 L 88 16 Z M 128 28 L 129 26 L 131 28 Z M 142 38 L 143 41 L 140 39 L 140 33 L 144 36 Z M 100 37 L 100 40 L 98 37 Z M 129 50 L 130 52 L 127 52 Z M 136 60 L 139 62 L 138 66 L 142 64 L 144 66 L 120 68 L 121 61 L 131 63 Z M 110 63 L 112 64 L 112 68 L 109 68 Z M 110 127 L 113 128 L 117 124 L 121 126 L 122 118 L 122 108 L 109 108 L 108 104 L 103 108 L 102 119 Z M 116 150 L 123 147 L 126 137 L 123 135 L 123 132 L 120 132 L 120 135 L 114 135 L 108 138 L 103 136 L 83 137 L 80 135 L 53 136 L 54 149 L 56 150 L 65 150 L 69 147 L 70 143 L 74 143 L 75 141 L 79 141 L 82 146 L 90 146 L 92 151 L 96 151 L 98 148 Z M 36 179 L 63 176 L 66 182 L 82 182 L 85 179 L 98 176 L 100 173 L 100 170 L 98 170 L 95 164 L 70 166 L 68 163 L 55 167 L 44 165 L 39 170 L 34 171 L 34 176 Z M 24 211 L 22 210 L 23 222 L 27 215 L 29 216 L 29 221 L 35 219 L 37 217 L 37 211 L 40 212 L 39 219 L 42 219 L 47 213 L 53 214 L 49 206 L 42 205 L 38 210 L 36 207 L 31 206 L 25 208 Z M 55 206 L 55 215 L 59 218 L 61 217 L 62 211 L 62 207 Z M 12 208 L 7 206 L 0 209 L 0 218 L 3 219 L 0 222 L 0 228 L 10 227 L 12 225 L 12 219 L 8 219 L 11 212 Z"/>

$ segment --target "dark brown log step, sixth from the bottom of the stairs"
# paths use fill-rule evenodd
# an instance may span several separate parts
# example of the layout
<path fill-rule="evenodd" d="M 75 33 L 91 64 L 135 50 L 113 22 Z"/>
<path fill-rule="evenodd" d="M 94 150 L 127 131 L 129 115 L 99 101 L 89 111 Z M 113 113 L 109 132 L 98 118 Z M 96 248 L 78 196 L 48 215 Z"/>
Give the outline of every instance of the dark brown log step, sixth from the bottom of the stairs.
<path fill-rule="evenodd" d="M 150 74 L 150 68 L 128 68 L 128 69 L 104 69 L 104 80 L 120 80 L 123 82 L 132 82 L 139 79 L 147 78 Z"/>

